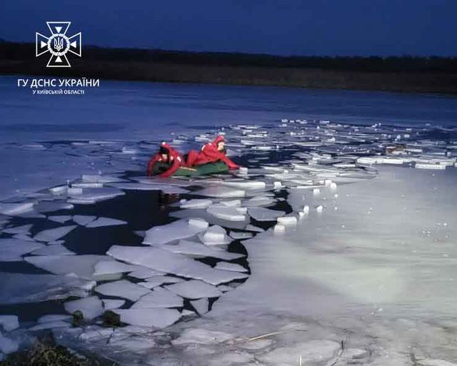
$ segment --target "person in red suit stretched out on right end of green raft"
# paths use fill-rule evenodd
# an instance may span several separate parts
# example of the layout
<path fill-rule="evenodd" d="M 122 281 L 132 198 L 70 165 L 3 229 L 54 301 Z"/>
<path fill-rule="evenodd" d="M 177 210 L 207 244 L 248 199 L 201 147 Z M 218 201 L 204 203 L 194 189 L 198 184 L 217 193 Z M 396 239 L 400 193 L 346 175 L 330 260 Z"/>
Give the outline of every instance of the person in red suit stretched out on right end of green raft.
<path fill-rule="evenodd" d="M 226 139 L 224 136 L 217 136 L 213 142 L 205 143 L 199 153 L 195 150 L 189 151 L 186 159 L 187 166 L 201 166 L 202 164 L 215 163 L 216 161 L 223 161 L 229 166 L 229 169 L 239 168 L 236 163 L 233 163 L 226 156 Z"/>

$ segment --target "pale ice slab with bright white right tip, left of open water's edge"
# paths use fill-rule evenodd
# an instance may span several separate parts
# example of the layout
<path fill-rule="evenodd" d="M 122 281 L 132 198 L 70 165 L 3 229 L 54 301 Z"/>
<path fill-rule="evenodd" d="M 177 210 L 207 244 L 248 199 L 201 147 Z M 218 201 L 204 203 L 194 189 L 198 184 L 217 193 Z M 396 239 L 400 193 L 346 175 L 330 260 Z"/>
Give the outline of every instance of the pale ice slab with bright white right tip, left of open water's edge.
<path fill-rule="evenodd" d="M 154 228 L 146 231 L 146 238 L 144 238 L 143 244 L 165 244 L 173 240 L 189 238 L 201 233 L 206 228 L 208 228 L 208 223 L 201 219 L 178 220 L 174 223 L 154 226 Z"/>

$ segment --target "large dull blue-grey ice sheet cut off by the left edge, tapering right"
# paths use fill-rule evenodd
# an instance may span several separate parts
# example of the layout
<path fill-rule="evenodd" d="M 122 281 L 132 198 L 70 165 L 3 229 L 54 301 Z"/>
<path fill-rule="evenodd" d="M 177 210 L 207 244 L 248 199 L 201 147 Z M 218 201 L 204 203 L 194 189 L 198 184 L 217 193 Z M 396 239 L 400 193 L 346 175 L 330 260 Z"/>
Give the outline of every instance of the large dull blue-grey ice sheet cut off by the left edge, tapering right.
<path fill-rule="evenodd" d="M 36 303 L 84 296 L 96 283 L 64 275 L 0 273 L 0 304 Z"/>

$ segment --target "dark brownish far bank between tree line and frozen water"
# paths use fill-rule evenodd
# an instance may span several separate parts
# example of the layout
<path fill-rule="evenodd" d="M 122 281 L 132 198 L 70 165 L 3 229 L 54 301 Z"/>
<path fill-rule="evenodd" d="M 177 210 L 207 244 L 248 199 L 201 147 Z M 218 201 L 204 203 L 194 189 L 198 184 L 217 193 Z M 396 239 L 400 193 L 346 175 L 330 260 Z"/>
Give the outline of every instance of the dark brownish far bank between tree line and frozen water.
<path fill-rule="evenodd" d="M 59 71 L 49 70 L 38 61 L 0 60 L 0 75 L 84 76 L 118 81 L 457 95 L 456 73 L 398 73 L 96 60 L 74 60 L 71 69 Z"/>

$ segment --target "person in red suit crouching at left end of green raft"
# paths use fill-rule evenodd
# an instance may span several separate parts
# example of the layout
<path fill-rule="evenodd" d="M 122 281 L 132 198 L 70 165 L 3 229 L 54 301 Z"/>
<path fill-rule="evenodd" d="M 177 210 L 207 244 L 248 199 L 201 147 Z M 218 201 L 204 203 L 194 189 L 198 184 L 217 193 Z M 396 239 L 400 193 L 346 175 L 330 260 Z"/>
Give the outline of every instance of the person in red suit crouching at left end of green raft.
<path fill-rule="evenodd" d="M 169 143 L 163 142 L 160 145 L 159 152 L 148 162 L 148 176 L 167 178 L 172 176 L 179 168 L 186 168 L 184 158 Z"/>

